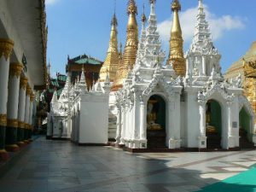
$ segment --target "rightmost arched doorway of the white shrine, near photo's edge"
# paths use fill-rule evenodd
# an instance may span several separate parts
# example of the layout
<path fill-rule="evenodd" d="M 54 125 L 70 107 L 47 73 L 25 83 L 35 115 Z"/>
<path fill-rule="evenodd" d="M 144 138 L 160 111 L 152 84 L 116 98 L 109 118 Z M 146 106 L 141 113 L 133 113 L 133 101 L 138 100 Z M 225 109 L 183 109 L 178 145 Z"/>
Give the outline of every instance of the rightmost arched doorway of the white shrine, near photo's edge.
<path fill-rule="evenodd" d="M 254 144 L 250 141 L 251 117 L 245 108 L 241 108 L 239 113 L 239 146 L 240 148 L 253 148 Z"/>

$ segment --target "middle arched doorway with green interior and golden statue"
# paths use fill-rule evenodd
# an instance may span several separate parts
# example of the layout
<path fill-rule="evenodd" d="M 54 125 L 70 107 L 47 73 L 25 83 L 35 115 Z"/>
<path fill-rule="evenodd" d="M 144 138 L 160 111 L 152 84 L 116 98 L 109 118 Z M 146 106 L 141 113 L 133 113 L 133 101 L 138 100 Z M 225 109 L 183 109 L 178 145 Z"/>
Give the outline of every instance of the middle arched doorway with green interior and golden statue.
<path fill-rule="evenodd" d="M 222 112 L 215 100 L 207 102 L 207 148 L 221 148 Z"/>

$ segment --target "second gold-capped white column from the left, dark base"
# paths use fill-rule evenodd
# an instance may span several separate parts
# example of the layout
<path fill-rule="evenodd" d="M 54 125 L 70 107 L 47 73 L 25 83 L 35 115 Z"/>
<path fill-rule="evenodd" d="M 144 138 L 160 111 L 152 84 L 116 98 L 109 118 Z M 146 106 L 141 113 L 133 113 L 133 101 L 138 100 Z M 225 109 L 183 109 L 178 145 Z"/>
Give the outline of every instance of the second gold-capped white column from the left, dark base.
<path fill-rule="evenodd" d="M 6 149 L 11 152 L 19 150 L 17 145 L 18 105 L 20 90 L 20 74 L 23 66 L 11 63 L 9 67 L 9 100 L 7 105 Z"/>

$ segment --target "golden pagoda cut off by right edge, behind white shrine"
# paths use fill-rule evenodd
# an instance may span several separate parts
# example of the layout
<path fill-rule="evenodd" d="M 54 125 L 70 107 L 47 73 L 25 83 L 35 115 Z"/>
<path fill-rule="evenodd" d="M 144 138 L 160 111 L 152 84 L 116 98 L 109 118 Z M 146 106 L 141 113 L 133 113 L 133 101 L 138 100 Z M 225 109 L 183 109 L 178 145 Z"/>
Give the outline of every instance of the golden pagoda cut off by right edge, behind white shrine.
<path fill-rule="evenodd" d="M 256 41 L 253 42 L 246 55 L 231 65 L 224 76 L 225 79 L 233 79 L 239 74 L 243 81 L 244 95 L 247 96 L 256 113 Z"/>

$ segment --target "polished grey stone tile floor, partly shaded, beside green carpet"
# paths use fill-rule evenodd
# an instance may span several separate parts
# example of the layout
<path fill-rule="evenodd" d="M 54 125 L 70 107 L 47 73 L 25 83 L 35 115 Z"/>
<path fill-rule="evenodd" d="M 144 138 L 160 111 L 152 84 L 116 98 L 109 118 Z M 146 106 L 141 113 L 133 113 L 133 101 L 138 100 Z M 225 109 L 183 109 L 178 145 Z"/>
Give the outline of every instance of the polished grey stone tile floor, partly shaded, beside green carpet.
<path fill-rule="evenodd" d="M 189 192 L 255 164 L 256 151 L 129 154 L 39 137 L 0 176 L 0 191 Z"/>

